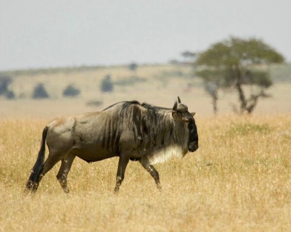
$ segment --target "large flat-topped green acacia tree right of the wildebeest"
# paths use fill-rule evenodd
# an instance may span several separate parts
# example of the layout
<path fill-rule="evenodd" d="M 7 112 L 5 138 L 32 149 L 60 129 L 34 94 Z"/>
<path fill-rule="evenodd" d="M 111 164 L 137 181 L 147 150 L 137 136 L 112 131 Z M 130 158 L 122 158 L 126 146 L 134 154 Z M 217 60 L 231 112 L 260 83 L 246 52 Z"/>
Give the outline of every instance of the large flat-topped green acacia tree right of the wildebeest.
<path fill-rule="evenodd" d="M 272 63 L 282 63 L 284 57 L 260 39 L 230 37 L 213 44 L 198 54 L 196 74 L 205 86 L 214 86 L 206 91 L 217 104 L 218 89 L 234 89 L 238 94 L 240 113 L 252 113 L 259 98 L 269 97 L 265 90 L 273 83 L 266 70 Z M 250 87 L 247 97 L 245 87 Z M 215 110 L 216 109 L 216 110 Z M 217 106 L 214 107 L 217 111 Z"/>

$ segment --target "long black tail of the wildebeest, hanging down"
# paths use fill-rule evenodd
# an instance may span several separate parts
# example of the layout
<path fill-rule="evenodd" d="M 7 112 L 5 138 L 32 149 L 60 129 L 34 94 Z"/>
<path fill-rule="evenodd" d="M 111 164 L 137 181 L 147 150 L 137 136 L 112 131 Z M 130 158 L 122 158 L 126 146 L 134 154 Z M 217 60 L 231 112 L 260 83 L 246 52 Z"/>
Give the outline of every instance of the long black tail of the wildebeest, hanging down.
<path fill-rule="evenodd" d="M 45 141 L 47 137 L 48 127 L 45 127 L 42 131 L 41 146 L 38 151 L 36 163 L 31 170 L 30 177 L 26 183 L 26 188 L 31 189 L 34 187 L 35 183 L 38 182 L 39 174 L 43 168 L 43 163 L 45 159 Z"/>

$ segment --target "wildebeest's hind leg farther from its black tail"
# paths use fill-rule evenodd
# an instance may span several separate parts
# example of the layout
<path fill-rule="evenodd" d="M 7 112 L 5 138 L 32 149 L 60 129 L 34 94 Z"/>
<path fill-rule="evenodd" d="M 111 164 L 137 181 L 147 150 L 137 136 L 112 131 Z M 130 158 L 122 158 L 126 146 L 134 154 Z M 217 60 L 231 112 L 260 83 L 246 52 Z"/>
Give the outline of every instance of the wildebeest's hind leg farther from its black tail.
<path fill-rule="evenodd" d="M 69 188 L 67 186 L 67 176 L 72 167 L 74 158 L 76 156 L 71 152 L 64 159 L 62 159 L 62 164 L 56 175 L 57 180 L 60 182 L 65 193 L 69 193 Z"/>

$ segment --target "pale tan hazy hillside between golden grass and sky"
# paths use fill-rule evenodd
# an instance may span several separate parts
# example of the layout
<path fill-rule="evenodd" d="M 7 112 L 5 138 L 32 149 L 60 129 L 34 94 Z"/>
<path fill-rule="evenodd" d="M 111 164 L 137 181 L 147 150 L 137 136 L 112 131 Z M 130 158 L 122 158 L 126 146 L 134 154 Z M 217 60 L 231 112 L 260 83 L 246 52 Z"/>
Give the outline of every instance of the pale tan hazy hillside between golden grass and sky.
<path fill-rule="evenodd" d="M 274 85 L 269 89 L 273 98 L 261 99 L 255 113 L 291 112 L 291 65 L 271 67 Z M 118 101 L 136 99 L 155 105 L 172 107 L 174 97 L 180 96 L 189 109 L 200 115 L 212 115 L 211 99 L 204 92 L 202 82 L 195 77 L 191 66 L 182 64 L 142 65 L 136 70 L 128 66 L 81 66 L 49 69 L 6 71 L 12 83 L 9 88 L 16 99 L 0 98 L 0 116 L 56 117 L 102 110 Z M 100 84 L 110 76 L 112 92 L 101 92 Z M 35 86 L 42 83 L 49 99 L 32 99 Z M 68 85 L 80 90 L 80 95 L 65 98 Z M 218 112 L 232 111 L 236 103 L 233 93 L 221 93 Z"/>

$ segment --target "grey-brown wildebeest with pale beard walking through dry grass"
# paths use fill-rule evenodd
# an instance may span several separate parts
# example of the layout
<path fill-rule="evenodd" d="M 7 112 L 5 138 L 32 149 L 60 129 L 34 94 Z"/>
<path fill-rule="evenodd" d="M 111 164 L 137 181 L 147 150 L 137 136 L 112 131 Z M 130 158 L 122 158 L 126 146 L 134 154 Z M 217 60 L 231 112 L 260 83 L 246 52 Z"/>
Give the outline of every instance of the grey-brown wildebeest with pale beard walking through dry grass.
<path fill-rule="evenodd" d="M 61 160 L 56 178 L 69 193 L 67 175 L 76 156 L 91 163 L 119 156 L 115 192 L 124 179 L 129 160 L 139 161 L 161 188 L 153 164 L 198 149 L 195 113 L 175 99 L 172 109 L 138 101 L 123 101 L 101 112 L 65 116 L 48 124 L 26 189 L 36 192 L 42 177 Z M 45 159 L 45 142 L 49 155 Z"/>

